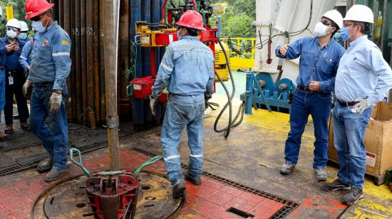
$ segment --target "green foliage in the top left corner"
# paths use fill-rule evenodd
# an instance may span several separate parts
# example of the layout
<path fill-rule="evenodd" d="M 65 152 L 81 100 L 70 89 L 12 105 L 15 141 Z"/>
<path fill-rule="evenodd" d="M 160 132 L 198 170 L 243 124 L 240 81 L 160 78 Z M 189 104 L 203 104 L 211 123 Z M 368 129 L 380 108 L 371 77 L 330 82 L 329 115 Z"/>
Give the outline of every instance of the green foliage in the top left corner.
<path fill-rule="evenodd" d="M 1 9 L 3 9 L 3 19 L 0 22 L 0 37 L 4 37 L 6 35 L 6 5 L 11 5 L 14 9 L 14 18 L 19 21 L 26 22 L 31 30 L 31 21 L 25 19 L 26 11 L 24 11 L 24 3 L 25 0 L 8 0 L 8 4 L 6 4 L 6 1 L 0 1 Z"/>

